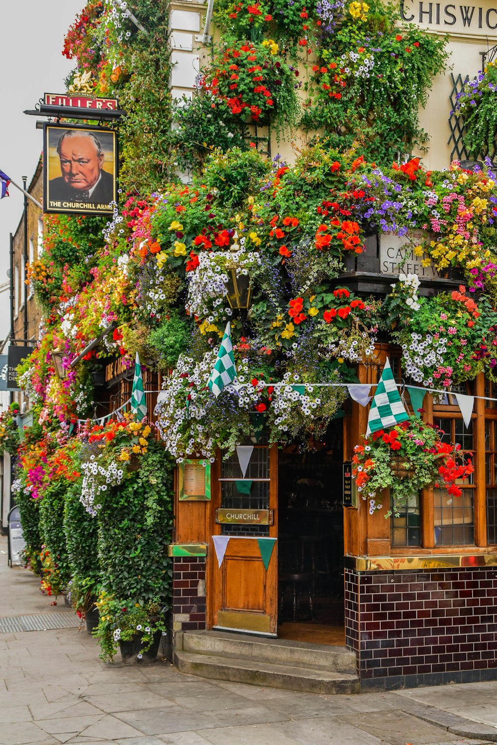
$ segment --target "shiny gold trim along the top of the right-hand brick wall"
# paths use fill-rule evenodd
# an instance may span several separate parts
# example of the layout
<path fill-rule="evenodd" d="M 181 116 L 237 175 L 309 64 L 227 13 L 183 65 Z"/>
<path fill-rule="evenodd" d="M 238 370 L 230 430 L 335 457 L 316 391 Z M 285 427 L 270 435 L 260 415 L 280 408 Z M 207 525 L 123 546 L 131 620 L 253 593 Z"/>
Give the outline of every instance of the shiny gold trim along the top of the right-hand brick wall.
<path fill-rule="evenodd" d="M 355 571 L 406 571 L 408 569 L 443 569 L 462 567 L 469 569 L 479 566 L 497 566 L 497 554 L 460 554 L 443 556 L 411 557 L 345 557 L 347 568 Z"/>

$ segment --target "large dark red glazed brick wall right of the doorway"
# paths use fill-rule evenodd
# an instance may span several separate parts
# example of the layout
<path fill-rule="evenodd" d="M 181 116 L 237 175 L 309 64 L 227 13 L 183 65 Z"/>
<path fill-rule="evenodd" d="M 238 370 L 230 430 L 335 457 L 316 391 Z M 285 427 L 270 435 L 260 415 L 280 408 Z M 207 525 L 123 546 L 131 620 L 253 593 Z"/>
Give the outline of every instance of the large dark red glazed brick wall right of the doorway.
<path fill-rule="evenodd" d="M 363 688 L 497 679 L 497 570 L 345 572 Z"/>

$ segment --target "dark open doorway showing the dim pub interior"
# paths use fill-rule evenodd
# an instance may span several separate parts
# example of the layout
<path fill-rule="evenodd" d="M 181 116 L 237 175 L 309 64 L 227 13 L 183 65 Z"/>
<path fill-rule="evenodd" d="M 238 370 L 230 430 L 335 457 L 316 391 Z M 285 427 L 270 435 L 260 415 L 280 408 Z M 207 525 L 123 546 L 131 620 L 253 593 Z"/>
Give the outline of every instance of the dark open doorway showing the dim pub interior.
<path fill-rule="evenodd" d="M 342 419 L 279 451 L 279 638 L 345 644 L 342 463 Z"/>

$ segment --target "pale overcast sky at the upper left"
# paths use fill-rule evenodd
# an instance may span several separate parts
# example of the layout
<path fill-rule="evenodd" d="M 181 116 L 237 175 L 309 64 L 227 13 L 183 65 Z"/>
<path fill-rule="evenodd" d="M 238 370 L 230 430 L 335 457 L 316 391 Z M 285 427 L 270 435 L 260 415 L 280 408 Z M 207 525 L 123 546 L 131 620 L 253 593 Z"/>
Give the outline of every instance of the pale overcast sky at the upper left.
<path fill-rule="evenodd" d="M 65 92 L 75 62 L 63 57 L 66 31 L 84 0 L 16 0 L 1 3 L 0 171 L 28 185 L 43 148 L 37 117 L 27 116 L 42 95 Z M 46 121 L 40 117 L 41 121 Z M 10 186 L 0 201 L 0 284 L 7 281 L 9 233 L 22 217 L 24 197 Z"/>

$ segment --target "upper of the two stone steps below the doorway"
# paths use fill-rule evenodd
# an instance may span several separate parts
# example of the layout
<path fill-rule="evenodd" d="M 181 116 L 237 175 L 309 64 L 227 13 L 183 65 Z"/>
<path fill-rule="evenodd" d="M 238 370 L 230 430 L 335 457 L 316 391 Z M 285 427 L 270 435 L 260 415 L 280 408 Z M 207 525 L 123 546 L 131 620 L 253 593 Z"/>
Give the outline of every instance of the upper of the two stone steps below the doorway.
<path fill-rule="evenodd" d="M 188 653 L 262 660 L 353 676 L 356 673 L 355 654 L 345 647 L 330 644 L 306 644 L 222 631 L 186 631 L 182 640 L 177 638 L 176 648 Z"/>

